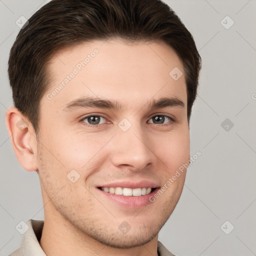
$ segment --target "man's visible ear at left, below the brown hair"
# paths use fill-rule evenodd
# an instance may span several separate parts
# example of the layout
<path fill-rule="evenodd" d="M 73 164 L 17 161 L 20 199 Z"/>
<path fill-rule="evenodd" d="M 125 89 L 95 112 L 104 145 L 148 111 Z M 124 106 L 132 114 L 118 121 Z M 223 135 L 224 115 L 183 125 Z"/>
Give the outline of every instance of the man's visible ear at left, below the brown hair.
<path fill-rule="evenodd" d="M 14 106 L 6 110 L 5 123 L 20 165 L 27 171 L 37 170 L 37 141 L 32 124 Z"/>

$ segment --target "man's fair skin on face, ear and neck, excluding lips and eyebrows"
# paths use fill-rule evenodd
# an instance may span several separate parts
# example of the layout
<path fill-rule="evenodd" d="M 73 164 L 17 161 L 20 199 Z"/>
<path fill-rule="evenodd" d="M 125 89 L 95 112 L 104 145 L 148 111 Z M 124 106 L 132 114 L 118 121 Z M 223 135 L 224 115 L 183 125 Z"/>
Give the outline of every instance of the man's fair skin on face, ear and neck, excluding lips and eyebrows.
<path fill-rule="evenodd" d="M 51 84 L 41 99 L 38 143 L 29 120 L 15 107 L 6 111 L 6 126 L 19 163 L 37 171 L 44 204 L 40 245 L 47 256 L 57 255 L 157 255 L 157 237 L 182 192 L 185 169 L 154 202 L 139 208 L 122 207 L 100 197 L 96 185 L 141 179 L 164 185 L 182 163 L 189 160 L 189 126 L 186 85 L 182 75 L 170 70 L 183 66 L 164 42 L 121 40 L 91 41 L 64 48 L 51 58 Z M 84 56 L 90 59 L 52 99 L 46 97 Z M 122 110 L 87 107 L 65 111 L 80 96 L 117 100 Z M 182 106 L 147 108 L 160 97 L 176 97 Z M 85 115 L 98 114 L 98 127 L 88 127 Z M 174 117 L 153 123 L 155 115 Z M 23 118 L 26 127 L 16 123 Z M 126 118 L 131 127 L 118 123 Z M 167 118 L 167 117 L 166 117 Z M 92 124 L 93 125 L 93 124 Z M 67 174 L 75 169 L 74 183 Z M 127 233 L 118 226 L 126 221 Z"/>

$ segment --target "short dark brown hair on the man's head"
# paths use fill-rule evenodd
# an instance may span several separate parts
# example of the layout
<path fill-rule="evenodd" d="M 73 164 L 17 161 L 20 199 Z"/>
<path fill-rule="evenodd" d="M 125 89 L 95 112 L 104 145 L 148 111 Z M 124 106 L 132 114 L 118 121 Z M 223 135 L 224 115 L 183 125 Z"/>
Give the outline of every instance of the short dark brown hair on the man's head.
<path fill-rule="evenodd" d="M 93 39 L 161 39 L 182 61 L 187 117 L 196 97 L 201 58 L 192 35 L 160 0 L 51 0 L 20 29 L 13 43 L 8 75 L 15 107 L 39 130 L 40 100 L 47 90 L 47 61 L 59 49 Z"/>

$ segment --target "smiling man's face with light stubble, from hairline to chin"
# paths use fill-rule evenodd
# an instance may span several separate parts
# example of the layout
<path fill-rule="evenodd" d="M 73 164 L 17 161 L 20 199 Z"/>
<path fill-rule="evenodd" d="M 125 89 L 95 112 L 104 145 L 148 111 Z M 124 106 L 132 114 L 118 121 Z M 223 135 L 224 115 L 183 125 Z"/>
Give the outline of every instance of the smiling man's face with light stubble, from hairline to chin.
<path fill-rule="evenodd" d="M 189 160 L 185 78 L 169 74 L 184 74 L 180 59 L 161 41 L 92 41 L 57 52 L 47 68 L 37 152 L 45 219 L 113 247 L 150 241 Z"/>

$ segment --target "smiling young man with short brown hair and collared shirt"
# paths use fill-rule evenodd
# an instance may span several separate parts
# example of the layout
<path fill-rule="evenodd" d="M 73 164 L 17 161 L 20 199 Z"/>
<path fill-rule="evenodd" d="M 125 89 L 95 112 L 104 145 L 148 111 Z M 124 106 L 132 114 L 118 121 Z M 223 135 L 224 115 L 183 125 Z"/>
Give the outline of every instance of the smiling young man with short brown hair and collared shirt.
<path fill-rule="evenodd" d="M 200 56 L 159 0 L 52 0 L 11 48 L 6 125 L 44 221 L 11 255 L 173 255 Z M 187 164 L 188 163 L 188 164 Z"/>

